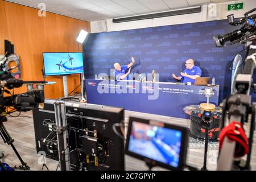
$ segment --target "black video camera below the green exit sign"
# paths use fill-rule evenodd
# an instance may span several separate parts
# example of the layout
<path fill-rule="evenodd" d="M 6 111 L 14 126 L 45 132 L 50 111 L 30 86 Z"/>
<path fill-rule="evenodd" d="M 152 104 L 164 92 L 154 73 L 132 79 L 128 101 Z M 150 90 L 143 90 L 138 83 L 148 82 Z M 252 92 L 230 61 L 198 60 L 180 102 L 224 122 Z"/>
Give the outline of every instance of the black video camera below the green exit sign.
<path fill-rule="evenodd" d="M 229 45 L 234 43 L 246 43 L 247 39 L 251 39 L 252 36 L 255 38 L 255 31 L 256 31 L 256 14 L 248 16 L 248 14 L 253 13 L 256 10 L 250 10 L 246 12 L 244 15 L 245 17 L 234 20 L 234 14 L 228 15 L 228 23 L 232 26 L 242 25 L 242 27 L 238 30 L 230 32 L 225 35 L 215 35 L 213 36 L 214 43 L 216 47 L 225 47 L 226 42 L 230 41 Z"/>

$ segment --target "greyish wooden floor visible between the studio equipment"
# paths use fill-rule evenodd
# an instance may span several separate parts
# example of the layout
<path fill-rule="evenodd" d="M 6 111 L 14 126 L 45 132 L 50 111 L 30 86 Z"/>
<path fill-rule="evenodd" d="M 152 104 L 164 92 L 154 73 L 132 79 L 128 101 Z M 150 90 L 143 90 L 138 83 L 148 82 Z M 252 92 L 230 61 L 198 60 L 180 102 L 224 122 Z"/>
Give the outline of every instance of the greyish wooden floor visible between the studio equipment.
<path fill-rule="evenodd" d="M 13 113 L 14 115 L 15 113 Z M 127 122 L 130 116 L 140 118 L 154 118 L 159 121 L 174 123 L 176 125 L 189 127 L 190 121 L 188 119 L 179 119 L 172 117 L 165 117 L 161 115 L 137 113 L 134 111 L 125 111 L 125 122 Z M 9 134 L 15 140 L 14 146 L 22 156 L 24 162 L 31 167 L 31 170 L 41 170 L 42 164 L 40 164 L 40 155 L 36 154 L 35 150 L 35 133 L 34 124 L 32 119 L 32 112 L 22 113 L 21 117 L 8 117 L 8 121 L 4 122 Z M 256 133 L 256 132 L 255 132 Z M 254 141 L 256 134 L 254 133 Z M 251 157 L 251 168 L 256 170 L 256 143 L 253 144 L 253 152 Z M 16 157 L 14 151 L 10 146 L 3 142 L 0 138 L 0 152 L 3 151 L 5 157 L 2 162 L 9 164 L 10 166 L 19 166 L 19 160 Z M 217 154 L 218 150 L 208 150 L 208 169 L 216 170 L 217 168 Z M 193 167 L 201 168 L 204 160 L 204 149 L 192 149 L 188 148 L 187 163 Z M 46 159 L 46 164 L 49 170 L 56 170 L 58 162 L 51 159 Z M 126 156 L 126 170 L 147 170 L 146 165 L 137 159 Z M 152 170 L 166 170 L 160 167 L 155 167 Z"/>

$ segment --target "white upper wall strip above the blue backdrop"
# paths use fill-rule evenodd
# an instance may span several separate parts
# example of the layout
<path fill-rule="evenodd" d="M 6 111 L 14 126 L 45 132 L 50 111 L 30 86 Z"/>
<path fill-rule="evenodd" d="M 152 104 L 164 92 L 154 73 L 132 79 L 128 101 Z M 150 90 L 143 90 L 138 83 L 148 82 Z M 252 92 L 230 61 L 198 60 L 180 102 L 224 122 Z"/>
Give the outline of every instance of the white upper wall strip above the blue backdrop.
<path fill-rule="evenodd" d="M 228 11 L 228 4 L 243 2 L 242 10 Z M 166 26 L 172 24 L 205 22 L 208 20 L 226 19 L 229 14 L 234 14 L 234 17 L 242 17 L 246 11 L 256 7 L 256 0 L 229 1 L 225 3 L 215 3 L 201 6 L 201 13 L 168 16 L 163 18 L 137 20 L 133 22 L 113 23 L 112 19 L 90 22 L 91 32 L 102 31 L 120 31 L 131 30 L 136 28 Z M 215 11 L 216 10 L 216 11 Z"/>

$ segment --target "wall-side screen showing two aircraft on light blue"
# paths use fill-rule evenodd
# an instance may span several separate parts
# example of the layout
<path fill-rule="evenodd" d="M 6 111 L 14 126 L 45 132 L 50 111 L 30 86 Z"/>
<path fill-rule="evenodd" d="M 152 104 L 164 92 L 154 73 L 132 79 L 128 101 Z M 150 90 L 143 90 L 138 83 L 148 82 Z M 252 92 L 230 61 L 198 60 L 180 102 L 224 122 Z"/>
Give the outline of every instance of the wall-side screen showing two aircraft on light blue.
<path fill-rule="evenodd" d="M 82 52 L 44 52 L 43 61 L 46 76 L 84 72 Z"/>

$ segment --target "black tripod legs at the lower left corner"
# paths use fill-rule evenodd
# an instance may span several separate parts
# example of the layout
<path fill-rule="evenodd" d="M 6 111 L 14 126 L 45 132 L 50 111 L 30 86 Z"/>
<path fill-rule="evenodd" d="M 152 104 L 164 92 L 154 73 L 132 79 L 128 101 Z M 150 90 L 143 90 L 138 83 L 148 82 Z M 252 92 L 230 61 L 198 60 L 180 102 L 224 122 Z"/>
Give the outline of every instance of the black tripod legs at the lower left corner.
<path fill-rule="evenodd" d="M 25 163 L 22 158 L 20 157 L 18 151 L 16 150 L 16 148 L 14 147 L 14 139 L 11 138 L 10 134 L 8 133 L 8 131 L 6 130 L 5 126 L 3 125 L 3 122 L 7 121 L 6 117 L 0 117 L 0 135 L 3 139 L 3 142 L 9 144 L 11 146 L 11 148 L 13 148 L 16 156 L 19 158 L 19 161 L 22 165 L 20 165 L 18 168 L 16 168 L 16 166 L 14 168 L 16 169 L 20 169 L 20 170 L 29 170 L 30 167 L 27 166 L 27 163 Z M 2 168 L 2 170 L 4 171 L 5 168 L 3 167 L 3 164 L 0 161 L 0 167 Z"/>

